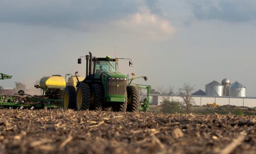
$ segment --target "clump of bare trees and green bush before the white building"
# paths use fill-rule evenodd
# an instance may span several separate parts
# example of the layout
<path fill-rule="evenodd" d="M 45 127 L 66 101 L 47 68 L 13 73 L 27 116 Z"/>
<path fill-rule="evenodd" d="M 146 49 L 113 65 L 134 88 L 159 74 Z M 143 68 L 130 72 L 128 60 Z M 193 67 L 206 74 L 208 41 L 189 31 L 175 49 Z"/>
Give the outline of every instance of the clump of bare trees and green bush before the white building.
<path fill-rule="evenodd" d="M 186 111 L 187 114 L 190 113 L 190 107 L 194 104 L 192 100 L 191 93 L 194 90 L 194 85 L 190 83 L 184 83 L 183 87 L 178 89 L 176 93 L 181 100 L 170 101 L 171 95 L 175 94 L 173 92 L 174 87 L 169 86 L 164 88 L 164 86 L 158 87 L 157 91 L 152 89 L 151 94 L 159 94 L 159 99 L 161 101 L 161 111 L 164 113 L 173 113 Z"/>

